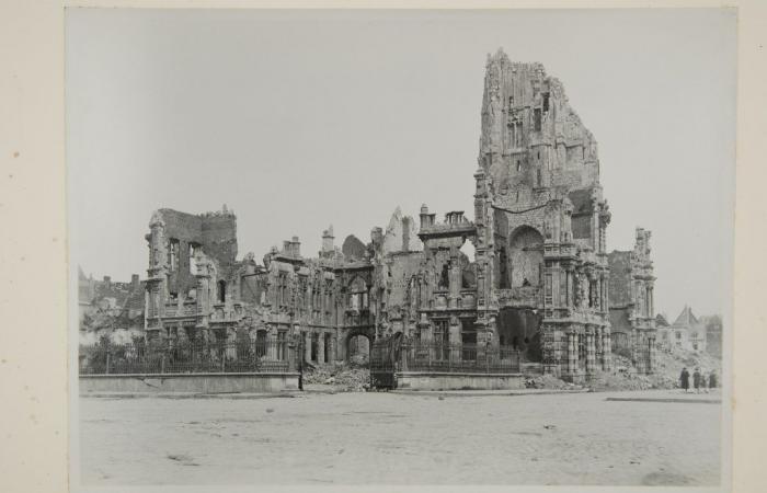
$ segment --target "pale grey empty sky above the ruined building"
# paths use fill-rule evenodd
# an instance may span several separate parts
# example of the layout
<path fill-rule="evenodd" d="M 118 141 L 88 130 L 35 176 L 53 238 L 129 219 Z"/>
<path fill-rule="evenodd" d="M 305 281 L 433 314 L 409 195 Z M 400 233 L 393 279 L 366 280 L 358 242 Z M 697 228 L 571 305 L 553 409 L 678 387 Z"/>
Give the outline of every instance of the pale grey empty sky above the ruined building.
<path fill-rule="evenodd" d="M 486 54 L 540 61 L 599 144 L 609 250 L 652 230 L 655 306 L 729 306 L 735 13 L 68 9 L 70 252 L 146 277 L 152 210 L 238 217 L 239 256 L 473 215 Z"/>

